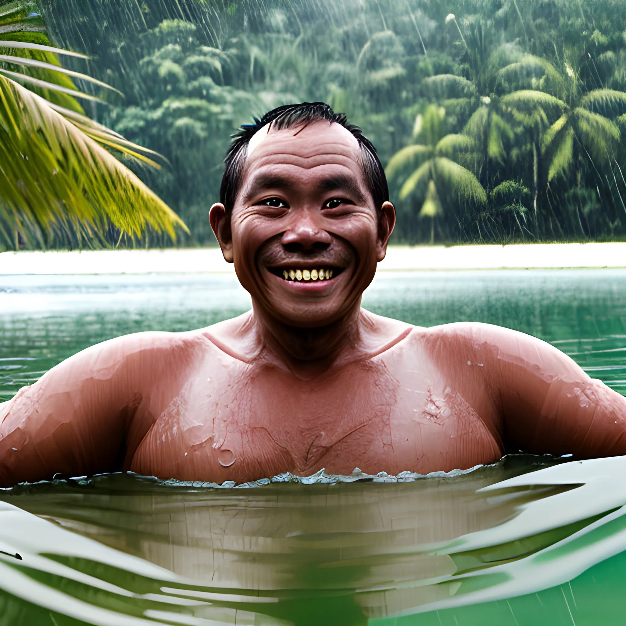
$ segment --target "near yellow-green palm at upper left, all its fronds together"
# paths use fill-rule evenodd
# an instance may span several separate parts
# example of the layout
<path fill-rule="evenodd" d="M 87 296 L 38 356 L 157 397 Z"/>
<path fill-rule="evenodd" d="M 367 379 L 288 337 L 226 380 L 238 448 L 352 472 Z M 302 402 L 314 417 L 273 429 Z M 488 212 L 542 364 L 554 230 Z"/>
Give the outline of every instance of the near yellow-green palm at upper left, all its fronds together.
<path fill-rule="evenodd" d="M 23 11 L 18 6 L 15 11 Z M 33 3 L 28 3 L 28 15 Z M 36 13 L 36 11 L 34 12 Z M 6 17 L 6 16 L 5 16 Z M 19 20 L 13 20 L 19 23 Z M 0 233 L 45 247 L 59 230 L 100 237 L 112 224 L 121 235 L 146 226 L 175 238 L 180 218 L 113 153 L 159 167 L 155 153 L 126 141 L 84 115 L 77 78 L 105 83 L 61 66 L 57 56 L 86 58 L 54 48 L 40 33 L 11 32 L 0 40 Z M 36 43 L 39 41 L 39 43 Z M 41 43 L 43 42 L 43 43 Z M 113 152 L 113 153 L 112 153 Z"/>

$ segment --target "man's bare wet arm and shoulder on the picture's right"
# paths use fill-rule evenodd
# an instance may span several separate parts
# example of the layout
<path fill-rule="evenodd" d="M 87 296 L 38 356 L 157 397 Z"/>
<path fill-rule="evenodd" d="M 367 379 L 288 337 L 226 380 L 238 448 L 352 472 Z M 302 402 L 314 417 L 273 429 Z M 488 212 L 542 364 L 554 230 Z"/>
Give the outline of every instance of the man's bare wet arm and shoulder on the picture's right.
<path fill-rule="evenodd" d="M 458 369 L 480 369 L 501 415 L 507 452 L 626 454 L 626 398 L 589 377 L 566 354 L 490 324 L 450 324 L 445 332 Z"/>

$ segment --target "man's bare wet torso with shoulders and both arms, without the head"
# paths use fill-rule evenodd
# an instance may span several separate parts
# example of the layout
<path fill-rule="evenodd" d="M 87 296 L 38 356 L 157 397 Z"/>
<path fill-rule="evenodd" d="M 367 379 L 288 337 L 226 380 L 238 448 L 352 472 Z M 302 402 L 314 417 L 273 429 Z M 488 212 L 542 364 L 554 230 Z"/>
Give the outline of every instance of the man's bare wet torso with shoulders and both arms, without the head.
<path fill-rule="evenodd" d="M 626 452 L 626 399 L 545 342 L 361 316 L 377 331 L 371 353 L 315 374 L 248 352 L 251 313 L 80 352 L 0 405 L 0 483 L 128 469 L 217 483 L 427 473 L 518 449 Z"/>

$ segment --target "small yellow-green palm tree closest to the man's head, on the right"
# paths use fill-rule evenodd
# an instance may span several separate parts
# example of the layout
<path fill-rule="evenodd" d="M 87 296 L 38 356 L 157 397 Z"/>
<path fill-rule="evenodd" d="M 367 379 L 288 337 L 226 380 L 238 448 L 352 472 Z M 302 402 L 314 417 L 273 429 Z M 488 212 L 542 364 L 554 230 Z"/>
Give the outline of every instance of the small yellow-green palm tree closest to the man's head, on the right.
<path fill-rule="evenodd" d="M 434 242 L 434 218 L 444 215 L 444 206 L 457 218 L 456 207 L 485 206 L 487 197 L 478 179 L 457 161 L 475 151 L 475 142 L 466 135 L 443 135 L 445 110 L 429 105 L 416 119 L 416 136 L 424 143 L 406 146 L 391 157 L 387 176 L 393 178 L 407 167 L 417 167 L 400 189 L 400 200 L 413 195 L 421 202 L 419 217 L 431 218 L 431 243 Z M 442 136 L 443 135 L 443 136 Z"/>

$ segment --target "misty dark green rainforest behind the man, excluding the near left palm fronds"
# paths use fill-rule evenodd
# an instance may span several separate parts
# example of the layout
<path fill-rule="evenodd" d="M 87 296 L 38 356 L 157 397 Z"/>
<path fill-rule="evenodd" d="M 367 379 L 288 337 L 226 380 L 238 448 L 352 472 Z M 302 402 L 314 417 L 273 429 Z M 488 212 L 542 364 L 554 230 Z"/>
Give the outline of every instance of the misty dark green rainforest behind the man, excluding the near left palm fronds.
<path fill-rule="evenodd" d="M 56 44 L 123 91 L 99 121 L 212 241 L 229 135 L 325 100 L 388 165 L 396 242 L 626 236 L 621 0 L 41 0 Z M 424 219 L 426 218 L 426 219 Z"/>

